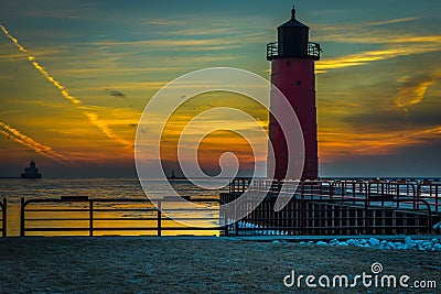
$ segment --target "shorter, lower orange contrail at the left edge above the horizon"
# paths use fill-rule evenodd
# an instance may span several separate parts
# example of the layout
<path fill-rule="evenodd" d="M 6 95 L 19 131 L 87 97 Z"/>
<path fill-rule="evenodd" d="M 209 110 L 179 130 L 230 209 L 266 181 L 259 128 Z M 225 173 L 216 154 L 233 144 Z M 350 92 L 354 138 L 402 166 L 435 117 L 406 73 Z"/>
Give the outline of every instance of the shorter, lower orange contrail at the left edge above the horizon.
<path fill-rule="evenodd" d="M 8 139 L 12 139 L 15 142 L 32 149 L 33 151 L 35 151 L 36 153 L 52 159 L 54 161 L 58 161 L 58 162 L 68 162 L 68 159 L 66 156 L 64 156 L 63 154 L 54 151 L 52 148 L 46 146 L 42 143 L 36 142 L 35 140 L 33 140 L 32 138 L 21 133 L 19 130 L 12 128 L 11 126 L 1 122 L 0 121 L 0 127 L 2 129 L 0 129 L 0 133 L 2 135 L 4 135 Z"/>

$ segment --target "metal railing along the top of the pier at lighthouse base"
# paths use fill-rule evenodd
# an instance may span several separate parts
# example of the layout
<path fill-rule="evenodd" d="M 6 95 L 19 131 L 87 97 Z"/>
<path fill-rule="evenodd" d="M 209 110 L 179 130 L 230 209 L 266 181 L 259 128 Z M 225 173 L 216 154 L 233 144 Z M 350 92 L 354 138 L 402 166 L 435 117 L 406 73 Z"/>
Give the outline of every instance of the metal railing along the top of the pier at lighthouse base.
<path fill-rule="evenodd" d="M 418 200 L 426 200 L 431 211 L 441 213 L 441 181 L 406 179 L 319 179 L 319 181 L 268 181 L 236 178 L 229 185 L 229 193 L 239 195 L 246 190 L 268 190 L 268 196 L 293 196 L 301 199 L 366 199 L 368 205 L 390 206 L 396 199 L 396 208 L 412 206 L 418 209 Z M 402 202 L 400 200 L 402 199 Z"/>

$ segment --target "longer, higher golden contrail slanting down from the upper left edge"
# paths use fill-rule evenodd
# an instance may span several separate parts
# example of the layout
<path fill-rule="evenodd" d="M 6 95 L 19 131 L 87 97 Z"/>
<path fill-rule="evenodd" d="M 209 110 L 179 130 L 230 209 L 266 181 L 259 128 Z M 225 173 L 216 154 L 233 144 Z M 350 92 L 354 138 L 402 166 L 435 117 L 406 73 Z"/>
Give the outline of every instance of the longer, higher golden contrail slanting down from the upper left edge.
<path fill-rule="evenodd" d="M 118 135 L 116 135 L 107 126 L 105 126 L 104 123 L 101 123 L 98 120 L 98 115 L 93 113 L 90 111 L 87 110 L 87 107 L 82 105 L 82 101 L 79 101 L 77 98 L 73 97 L 68 90 L 58 81 L 56 80 L 53 76 L 51 76 L 51 74 L 42 66 L 40 65 L 36 61 L 35 57 L 32 56 L 25 47 L 23 47 L 19 41 L 13 37 L 9 31 L 2 25 L 0 24 L 0 29 L 3 31 L 4 35 L 8 36 L 9 40 L 12 41 L 12 43 L 15 44 L 15 46 L 24 54 L 26 54 L 28 56 L 28 61 L 35 67 L 36 70 L 39 70 L 45 78 L 47 81 L 50 81 L 52 85 L 55 86 L 55 88 L 57 88 L 60 90 L 60 92 L 62 94 L 62 96 L 67 99 L 68 101 L 71 101 L 75 107 L 77 107 L 78 109 L 80 109 L 83 111 L 83 115 L 85 115 L 88 120 L 95 124 L 104 134 L 106 134 L 109 139 L 111 140 L 116 140 L 119 143 L 121 143 L 122 145 L 126 145 L 128 148 L 132 148 L 132 143 L 129 142 L 128 140 L 125 140 Z"/>

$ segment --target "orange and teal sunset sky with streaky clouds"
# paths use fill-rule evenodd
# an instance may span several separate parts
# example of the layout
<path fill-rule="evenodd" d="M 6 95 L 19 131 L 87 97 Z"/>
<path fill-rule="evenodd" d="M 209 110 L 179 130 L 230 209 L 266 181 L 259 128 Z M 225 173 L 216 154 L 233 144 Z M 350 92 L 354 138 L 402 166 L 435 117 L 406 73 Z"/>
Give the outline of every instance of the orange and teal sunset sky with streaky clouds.
<path fill-rule="evenodd" d="M 1 1 L 0 176 L 34 160 L 45 177 L 136 176 L 133 140 L 142 111 L 170 80 L 207 67 L 270 77 L 266 44 L 292 1 Z M 316 62 L 320 176 L 440 176 L 441 2 L 295 1 L 323 48 Z M 164 130 L 164 166 L 192 117 L 213 106 L 265 109 L 235 95 L 206 95 Z M 219 118 L 207 123 L 233 123 Z M 234 132 L 207 135 L 201 166 L 218 172 L 236 152 Z M 161 153 L 162 154 L 162 153 Z"/>

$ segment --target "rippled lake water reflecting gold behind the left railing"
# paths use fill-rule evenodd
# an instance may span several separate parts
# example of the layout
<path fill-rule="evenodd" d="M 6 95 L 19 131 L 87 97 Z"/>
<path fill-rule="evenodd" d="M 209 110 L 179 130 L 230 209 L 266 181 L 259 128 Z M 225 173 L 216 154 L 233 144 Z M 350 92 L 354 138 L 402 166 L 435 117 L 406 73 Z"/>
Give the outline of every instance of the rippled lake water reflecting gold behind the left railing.
<path fill-rule="evenodd" d="M 168 195 L 166 183 L 159 182 L 159 181 L 148 181 L 144 182 L 146 186 L 148 187 L 147 190 L 149 196 L 171 196 Z M 179 181 L 173 179 L 170 182 L 173 188 L 181 195 L 181 196 L 197 196 L 197 197 L 208 197 L 208 198 L 217 198 L 220 192 L 226 192 L 226 188 L 200 188 L 187 181 Z M 205 186 L 216 186 L 216 181 L 206 181 Z M 8 236 L 18 236 L 20 233 L 20 199 L 24 197 L 28 199 L 50 199 L 50 198 L 61 198 L 62 196 L 87 196 L 89 199 L 148 199 L 146 193 L 143 192 L 141 184 L 138 178 L 92 178 L 92 179 L 21 179 L 21 178 L 11 178 L 11 179 L 0 179 L 0 199 L 7 198 L 8 199 Z M 87 203 L 83 204 L 65 204 L 63 208 L 79 208 L 79 209 L 87 209 Z M 103 208 L 103 204 L 100 207 Z M 105 207 L 108 208 L 133 208 L 138 209 L 141 207 L 146 207 L 146 203 L 128 203 L 128 204 L 105 204 Z M 54 208 L 60 207 L 60 205 L 53 204 L 37 204 L 33 205 L 32 207 L 29 206 L 30 209 L 36 208 L 40 209 L 44 206 L 44 208 Z M 213 204 L 208 205 L 214 210 L 216 207 L 213 207 Z M 150 205 L 150 207 L 152 207 Z M 99 207 L 98 207 L 99 208 Z M 166 209 L 166 207 L 164 207 Z M 176 209 L 179 207 L 172 207 L 169 205 L 170 209 Z M 88 221 L 85 220 L 60 220 L 63 218 L 87 218 L 88 213 L 82 211 L 69 211 L 69 213 L 37 213 L 33 211 L 26 215 L 26 218 L 32 219 L 41 219 L 41 218 L 54 218 L 58 220 L 53 220 L 50 224 L 43 221 L 30 221 L 29 227 L 46 227 L 46 225 L 51 225 L 51 227 L 87 227 Z M 175 213 L 181 214 L 182 217 L 205 217 L 206 220 L 194 220 L 194 225 L 204 226 L 204 225 L 218 225 L 218 214 L 213 211 L 198 211 L 197 214 L 194 213 Z M 154 221 L 143 220 L 138 221 L 136 218 L 142 217 L 153 217 L 153 213 L 144 213 L 140 215 L 140 211 L 132 211 L 127 214 L 126 213 L 116 213 L 110 214 L 108 211 L 104 211 L 100 214 L 96 214 L 95 217 L 97 218 L 109 218 L 109 217 L 126 217 L 132 218 L 132 221 L 120 221 L 116 224 L 115 221 L 110 222 L 106 220 L 95 221 L 95 227 L 118 227 L 118 226 L 126 226 L 126 227 L 141 227 L 141 226 L 157 226 Z M 197 224 L 196 224 L 197 222 Z M 116 224 L 116 225 L 115 225 Z M 163 221 L 164 227 L 181 227 L 182 225 L 178 224 L 176 221 Z M 28 227 L 28 226 L 26 226 Z M 88 235 L 88 231 L 72 231 L 72 232 L 44 232 L 44 233 L 34 233 L 34 232 L 26 232 L 28 235 L 44 235 L 44 236 L 57 236 L 57 235 Z M 94 232 L 95 235 L 155 235 L 155 231 L 98 231 Z M 163 235 L 218 235 L 216 230 L 206 230 L 206 231 L 164 231 Z"/>

